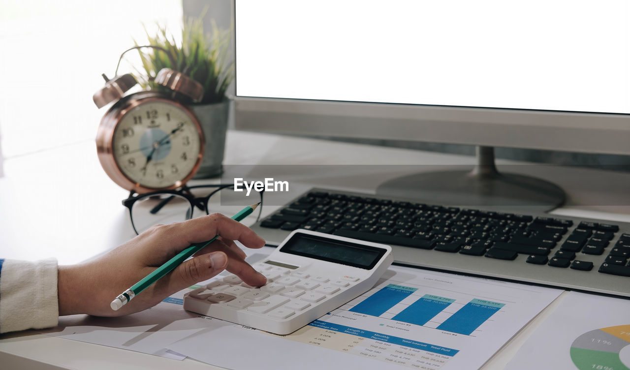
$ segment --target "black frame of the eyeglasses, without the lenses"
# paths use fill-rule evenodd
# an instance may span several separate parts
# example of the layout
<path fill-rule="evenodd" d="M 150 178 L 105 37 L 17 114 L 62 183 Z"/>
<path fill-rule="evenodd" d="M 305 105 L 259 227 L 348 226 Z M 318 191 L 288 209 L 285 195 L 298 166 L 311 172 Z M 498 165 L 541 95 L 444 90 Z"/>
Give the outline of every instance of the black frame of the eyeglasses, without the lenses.
<path fill-rule="evenodd" d="M 158 190 L 158 191 L 151 191 L 150 193 L 142 193 L 142 194 L 138 194 L 132 190 L 129 193 L 129 198 L 122 200 L 122 205 L 125 206 L 125 208 L 129 210 L 129 220 L 131 221 L 131 227 L 134 228 L 135 234 L 140 235 L 138 230 L 136 230 L 135 228 L 134 216 L 132 215 L 132 208 L 134 206 L 134 203 L 137 200 L 145 198 L 145 197 L 157 195 L 157 194 L 173 194 L 173 195 L 183 196 L 184 198 L 186 198 L 188 203 L 190 203 L 190 206 L 192 206 L 192 210 L 190 211 L 190 217 L 186 218 L 186 220 L 191 220 L 195 207 L 199 208 L 202 211 L 205 211 L 206 215 L 210 215 L 210 211 L 208 210 L 208 202 L 210 200 L 210 197 L 216 193 L 219 193 L 219 191 L 221 191 L 222 189 L 226 189 L 230 187 L 234 187 L 234 184 L 207 184 L 207 185 L 193 185 L 193 186 L 184 185 L 179 189 Z M 217 188 L 217 189 L 212 191 L 212 193 L 208 194 L 207 196 L 194 196 L 192 194 L 191 189 L 198 189 L 198 188 Z M 260 206 L 258 206 L 258 215 L 256 216 L 256 222 L 260 220 L 260 215 L 263 210 L 263 193 L 265 193 L 265 189 L 262 189 L 261 191 L 257 191 L 257 193 L 260 194 Z M 137 194 L 137 195 L 134 196 L 134 194 Z M 156 207 L 159 206 L 159 208 L 156 211 L 159 211 L 165 205 L 166 203 L 164 203 L 164 205 L 157 205 Z"/>

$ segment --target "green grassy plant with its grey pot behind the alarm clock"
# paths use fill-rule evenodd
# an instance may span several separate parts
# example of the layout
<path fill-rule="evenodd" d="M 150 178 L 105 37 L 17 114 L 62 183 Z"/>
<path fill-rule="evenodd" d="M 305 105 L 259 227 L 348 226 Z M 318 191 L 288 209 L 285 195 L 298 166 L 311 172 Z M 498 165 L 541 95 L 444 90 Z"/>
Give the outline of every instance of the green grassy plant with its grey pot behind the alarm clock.
<path fill-rule="evenodd" d="M 171 68 L 202 84 L 202 101 L 193 103 L 186 97 L 180 100 L 193 110 L 205 137 L 203 160 L 195 178 L 219 176 L 222 173 L 230 104 L 226 90 L 234 79 L 234 62 L 228 55 L 231 31 L 219 29 L 212 21 L 212 33 L 206 34 L 201 19 L 195 18 L 185 21 L 181 36 L 181 43 L 177 43 L 163 26 L 158 26 L 154 35 L 149 35 L 147 31 L 149 45 L 161 50 L 138 49 L 142 69 L 136 69 L 136 77 L 144 89 L 159 91 L 166 88 L 153 82 L 157 71 Z"/>

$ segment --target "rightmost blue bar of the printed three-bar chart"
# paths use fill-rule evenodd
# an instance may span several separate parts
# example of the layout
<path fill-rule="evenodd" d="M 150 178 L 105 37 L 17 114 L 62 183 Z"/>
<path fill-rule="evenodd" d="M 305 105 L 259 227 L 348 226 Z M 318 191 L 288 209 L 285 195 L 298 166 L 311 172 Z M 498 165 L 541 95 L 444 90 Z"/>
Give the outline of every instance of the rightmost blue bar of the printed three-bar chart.
<path fill-rule="evenodd" d="M 447 318 L 437 329 L 470 335 L 503 306 L 505 306 L 504 303 L 478 300 L 475 298 L 457 310 L 451 317 Z"/>

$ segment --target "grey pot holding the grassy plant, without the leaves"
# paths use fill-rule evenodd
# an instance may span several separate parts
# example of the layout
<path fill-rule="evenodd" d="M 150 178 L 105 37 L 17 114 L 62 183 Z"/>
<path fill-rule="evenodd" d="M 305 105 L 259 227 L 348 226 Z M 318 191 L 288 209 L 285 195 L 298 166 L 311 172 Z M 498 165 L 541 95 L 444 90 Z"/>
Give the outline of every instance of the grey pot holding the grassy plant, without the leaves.
<path fill-rule="evenodd" d="M 197 174 L 193 179 L 209 179 L 223 172 L 223 155 L 226 150 L 226 131 L 231 101 L 191 105 L 203 130 L 205 149 Z"/>

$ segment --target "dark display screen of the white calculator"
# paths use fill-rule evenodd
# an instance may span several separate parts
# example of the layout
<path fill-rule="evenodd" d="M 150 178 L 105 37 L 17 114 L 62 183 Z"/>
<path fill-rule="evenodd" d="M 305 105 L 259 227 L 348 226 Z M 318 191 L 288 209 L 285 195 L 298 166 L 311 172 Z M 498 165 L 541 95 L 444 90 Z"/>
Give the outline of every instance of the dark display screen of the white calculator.
<path fill-rule="evenodd" d="M 382 248 L 301 233 L 295 233 L 280 251 L 367 270 L 386 253 Z"/>

